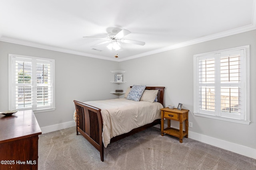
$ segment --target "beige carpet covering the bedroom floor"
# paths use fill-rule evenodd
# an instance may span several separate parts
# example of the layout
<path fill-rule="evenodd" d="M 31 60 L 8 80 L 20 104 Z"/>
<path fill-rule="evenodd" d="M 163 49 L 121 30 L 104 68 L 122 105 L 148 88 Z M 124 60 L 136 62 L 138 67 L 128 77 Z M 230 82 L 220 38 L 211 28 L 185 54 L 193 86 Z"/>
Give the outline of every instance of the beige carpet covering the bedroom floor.
<path fill-rule="evenodd" d="M 256 160 L 156 127 L 111 143 L 100 154 L 75 127 L 39 136 L 39 170 L 256 170 Z"/>

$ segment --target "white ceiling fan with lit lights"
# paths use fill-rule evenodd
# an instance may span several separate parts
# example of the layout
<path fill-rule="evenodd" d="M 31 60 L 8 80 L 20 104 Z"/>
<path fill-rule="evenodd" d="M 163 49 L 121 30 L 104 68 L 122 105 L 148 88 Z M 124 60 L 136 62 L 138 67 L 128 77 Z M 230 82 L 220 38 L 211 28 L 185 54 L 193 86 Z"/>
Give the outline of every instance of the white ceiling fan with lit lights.
<path fill-rule="evenodd" d="M 130 34 L 131 32 L 128 31 L 127 29 L 122 29 L 121 31 L 117 32 L 117 30 L 112 30 L 111 33 L 108 33 L 108 37 L 84 37 L 84 38 L 97 38 L 97 39 L 106 39 L 106 41 L 102 43 L 98 43 L 95 45 L 92 45 L 92 47 L 102 45 L 109 43 L 107 45 L 108 49 L 112 50 L 120 50 L 121 49 L 121 43 L 130 43 L 130 44 L 136 44 L 136 45 L 145 45 L 145 42 L 142 41 L 135 41 L 135 40 L 130 40 L 130 39 L 122 39 L 124 36 Z"/>

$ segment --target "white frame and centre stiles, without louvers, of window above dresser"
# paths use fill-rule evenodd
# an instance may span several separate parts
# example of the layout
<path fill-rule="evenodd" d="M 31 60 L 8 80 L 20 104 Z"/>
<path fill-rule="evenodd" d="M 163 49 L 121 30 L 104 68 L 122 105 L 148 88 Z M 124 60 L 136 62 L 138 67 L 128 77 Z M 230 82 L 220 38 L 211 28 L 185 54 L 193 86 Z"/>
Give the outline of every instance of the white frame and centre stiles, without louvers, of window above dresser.
<path fill-rule="evenodd" d="M 40 57 L 31 57 L 31 56 L 24 56 L 24 55 L 14 55 L 14 54 L 9 54 L 9 68 L 8 68 L 8 77 L 9 77 L 9 110 L 33 110 L 34 113 L 39 113 L 39 112 L 45 112 L 45 111 L 54 111 L 55 110 L 55 60 L 54 59 L 46 59 L 46 58 L 40 58 Z M 15 81 L 15 77 L 14 77 L 14 72 L 15 72 L 15 67 L 14 67 L 14 63 L 16 63 L 16 59 L 14 58 L 20 58 L 24 61 L 31 61 L 32 62 L 32 80 L 31 80 L 31 87 L 32 87 L 32 106 L 29 108 L 16 108 L 16 106 L 14 106 L 16 104 L 16 98 L 14 97 L 14 94 L 16 92 L 15 87 L 16 87 L 16 81 Z M 38 84 L 39 86 L 37 86 L 36 83 L 36 64 L 40 63 L 40 61 L 42 62 L 46 62 L 46 63 L 51 63 L 51 68 L 50 68 L 50 72 L 51 72 L 51 87 L 52 87 L 52 93 L 51 93 L 51 97 L 52 97 L 52 103 L 50 104 L 50 106 L 48 107 L 42 107 L 39 108 L 40 106 L 38 106 L 38 104 L 36 104 L 36 87 L 40 87 L 41 84 Z"/>

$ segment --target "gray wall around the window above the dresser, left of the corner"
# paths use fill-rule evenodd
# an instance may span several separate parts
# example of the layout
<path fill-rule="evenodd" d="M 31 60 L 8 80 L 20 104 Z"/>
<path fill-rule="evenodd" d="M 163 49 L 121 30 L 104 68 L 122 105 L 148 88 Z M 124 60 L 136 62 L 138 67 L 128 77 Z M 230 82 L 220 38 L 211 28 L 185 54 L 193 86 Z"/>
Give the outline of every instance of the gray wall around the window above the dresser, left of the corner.
<path fill-rule="evenodd" d="M 118 98 L 110 84 L 118 63 L 0 41 L 0 111 L 8 110 L 8 54 L 55 59 L 55 111 L 35 113 L 40 127 L 73 121 L 74 102 Z"/>

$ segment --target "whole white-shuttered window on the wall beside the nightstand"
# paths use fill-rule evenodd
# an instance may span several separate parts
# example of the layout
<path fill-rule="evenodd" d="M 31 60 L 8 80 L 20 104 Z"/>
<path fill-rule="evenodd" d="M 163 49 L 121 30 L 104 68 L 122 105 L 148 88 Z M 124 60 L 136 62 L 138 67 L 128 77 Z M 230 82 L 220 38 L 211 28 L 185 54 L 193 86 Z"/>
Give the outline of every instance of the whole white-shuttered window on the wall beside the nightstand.
<path fill-rule="evenodd" d="M 250 123 L 249 45 L 194 55 L 194 115 Z"/>

